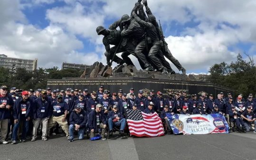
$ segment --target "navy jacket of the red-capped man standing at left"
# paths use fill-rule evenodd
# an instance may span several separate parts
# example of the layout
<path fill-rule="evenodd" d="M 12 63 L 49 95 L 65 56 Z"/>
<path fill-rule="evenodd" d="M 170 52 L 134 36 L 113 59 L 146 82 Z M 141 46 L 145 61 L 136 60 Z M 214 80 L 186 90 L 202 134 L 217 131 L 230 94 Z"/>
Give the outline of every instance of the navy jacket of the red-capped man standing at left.
<path fill-rule="evenodd" d="M 22 97 L 19 97 L 17 101 L 15 101 L 12 116 L 14 120 L 26 120 L 28 117 L 32 116 L 32 102 L 31 99 L 28 98 L 26 101 L 23 101 Z M 23 114 L 22 114 L 23 111 Z"/>

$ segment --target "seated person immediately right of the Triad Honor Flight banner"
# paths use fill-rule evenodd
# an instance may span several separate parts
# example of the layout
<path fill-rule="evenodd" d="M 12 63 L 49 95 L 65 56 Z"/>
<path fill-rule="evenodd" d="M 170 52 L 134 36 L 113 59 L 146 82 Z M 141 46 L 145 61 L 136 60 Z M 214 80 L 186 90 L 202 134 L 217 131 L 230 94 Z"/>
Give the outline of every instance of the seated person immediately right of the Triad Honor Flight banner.
<path fill-rule="evenodd" d="M 232 131 L 235 132 L 235 124 L 237 126 L 237 132 L 245 132 L 245 124 L 241 118 L 241 113 L 236 111 L 235 106 L 231 106 L 229 110 L 229 121 L 231 124 Z"/>

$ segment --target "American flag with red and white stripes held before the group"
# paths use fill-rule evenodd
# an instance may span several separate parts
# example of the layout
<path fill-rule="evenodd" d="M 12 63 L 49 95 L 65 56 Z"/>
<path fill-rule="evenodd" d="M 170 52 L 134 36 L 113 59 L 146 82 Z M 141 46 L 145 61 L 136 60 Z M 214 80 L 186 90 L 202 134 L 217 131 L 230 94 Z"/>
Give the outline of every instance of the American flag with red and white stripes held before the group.
<path fill-rule="evenodd" d="M 126 121 L 131 135 L 157 137 L 164 135 L 161 118 L 157 113 L 146 114 L 141 110 L 126 110 Z"/>

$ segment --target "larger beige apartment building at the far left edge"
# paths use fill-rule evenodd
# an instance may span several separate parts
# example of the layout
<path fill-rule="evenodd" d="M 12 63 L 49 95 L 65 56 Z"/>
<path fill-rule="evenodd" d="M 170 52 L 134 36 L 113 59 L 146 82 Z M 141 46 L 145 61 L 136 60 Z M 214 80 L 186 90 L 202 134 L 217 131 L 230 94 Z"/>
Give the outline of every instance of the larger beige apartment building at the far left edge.
<path fill-rule="evenodd" d="M 3 54 L 0 55 L 0 66 L 12 69 L 13 64 L 15 64 L 15 68 L 25 68 L 28 71 L 34 71 L 38 67 L 38 59 L 11 58 Z"/>

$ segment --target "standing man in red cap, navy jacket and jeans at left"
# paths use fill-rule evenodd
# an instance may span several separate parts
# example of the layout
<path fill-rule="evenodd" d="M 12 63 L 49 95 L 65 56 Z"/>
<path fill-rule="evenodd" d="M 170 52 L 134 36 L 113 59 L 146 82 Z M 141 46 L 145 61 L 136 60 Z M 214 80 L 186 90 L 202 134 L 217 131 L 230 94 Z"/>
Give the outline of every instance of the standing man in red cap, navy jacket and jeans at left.
<path fill-rule="evenodd" d="M 31 117 L 31 99 L 28 97 L 28 91 L 23 91 L 21 93 L 21 97 L 15 102 L 13 107 L 13 119 L 14 119 L 14 127 L 12 132 L 12 142 L 11 144 L 17 143 L 17 134 L 19 125 L 22 126 L 22 135 L 21 142 L 24 142 L 27 137 L 29 121 Z"/>

